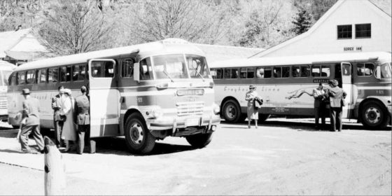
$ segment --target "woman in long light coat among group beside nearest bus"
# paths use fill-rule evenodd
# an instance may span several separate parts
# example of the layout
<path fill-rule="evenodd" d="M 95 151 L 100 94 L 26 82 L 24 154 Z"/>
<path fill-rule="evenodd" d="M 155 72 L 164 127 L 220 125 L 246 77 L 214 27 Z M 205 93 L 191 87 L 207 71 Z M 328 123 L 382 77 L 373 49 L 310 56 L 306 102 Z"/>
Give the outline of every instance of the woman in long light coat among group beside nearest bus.
<path fill-rule="evenodd" d="M 75 99 L 71 97 L 71 90 L 64 89 L 64 97 L 62 99 L 62 115 L 66 116 L 64 126 L 62 128 L 62 136 L 66 145 L 65 152 L 69 151 L 69 141 L 76 141 L 76 127 L 73 124 L 73 105 Z"/>

